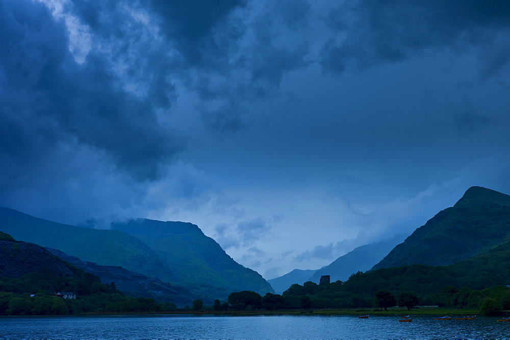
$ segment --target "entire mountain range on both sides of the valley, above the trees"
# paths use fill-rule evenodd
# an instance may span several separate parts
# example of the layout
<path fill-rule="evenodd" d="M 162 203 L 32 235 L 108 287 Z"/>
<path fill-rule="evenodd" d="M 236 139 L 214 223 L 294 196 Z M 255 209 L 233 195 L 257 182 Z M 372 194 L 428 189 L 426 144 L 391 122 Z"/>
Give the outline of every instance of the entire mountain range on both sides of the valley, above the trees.
<path fill-rule="evenodd" d="M 132 284 L 131 289 L 136 283 L 127 281 L 138 277 L 144 283 L 140 283 L 137 289 L 159 290 L 162 295 L 171 294 L 164 292 L 173 289 L 180 290 L 177 295 L 185 296 L 188 287 L 193 296 L 209 298 L 224 298 L 228 293 L 241 290 L 257 291 L 257 287 L 261 294 L 273 292 L 258 273 L 235 263 L 194 224 L 137 219 L 116 223 L 112 227 L 113 230 L 75 227 L 0 208 L 0 230 L 16 239 L 58 249 L 52 251 L 63 258 L 68 256 L 71 263 L 88 268 L 86 271 L 96 275 L 109 271 L 109 274 L 102 274 L 105 280 L 131 276 L 125 280 L 126 284 Z M 394 279 L 391 283 L 396 291 L 402 287 L 407 290 L 409 287 L 415 287 L 415 290 L 422 287 L 422 294 L 426 294 L 441 290 L 445 284 L 460 284 L 472 289 L 507 284 L 510 279 L 510 196 L 471 187 L 454 206 L 439 212 L 399 243 L 401 239 L 396 237 L 361 246 L 320 270 L 294 270 L 269 281 L 279 293 L 292 283 L 314 280 L 320 275 L 331 275 L 331 281 L 342 280 L 345 275 L 369 268 L 362 266 L 370 262 L 374 264 L 387 253 L 366 273 L 374 274 L 372 276 L 377 282 L 370 283 L 373 287 L 386 284 L 387 272 L 383 271 L 388 270 L 392 273 L 391 277 L 401 276 L 400 281 Z M 26 256 L 17 256 L 21 248 L 33 248 L 36 253 L 44 254 L 41 255 L 44 258 L 48 255 L 37 245 L 13 241 L 11 236 L 0 232 L 0 276 L 19 277 L 23 273 L 17 273 L 17 267 L 28 262 L 28 268 L 32 268 L 32 263 L 37 263 L 37 256 L 29 260 Z M 391 249 L 392 244 L 397 245 Z M 70 257 L 61 252 L 68 252 Z M 12 263 L 13 256 L 17 256 L 17 263 Z M 421 267 L 413 267 L 414 264 Z M 119 266 L 125 266 L 125 269 Z M 37 270 L 36 267 L 34 265 L 33 269 Z M 5 274 L 8 272 L 10 274 Z M 352 275 L 354 279 L 349 278 L 345 285 L 355 285 L 364 275 Z M 188 294 L 185 299 L 190 298 Z"/>

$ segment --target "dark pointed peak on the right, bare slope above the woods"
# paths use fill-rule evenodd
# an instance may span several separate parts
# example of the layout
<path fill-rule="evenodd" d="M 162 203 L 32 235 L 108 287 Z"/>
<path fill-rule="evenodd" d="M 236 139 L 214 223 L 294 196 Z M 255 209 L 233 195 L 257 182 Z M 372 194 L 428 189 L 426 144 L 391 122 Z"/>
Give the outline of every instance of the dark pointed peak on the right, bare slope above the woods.
<path fill-rule="evenodd" d="M 372 270 L 401 265 L 454 264 L 486 252 L 510 236 L 510 196 L 469 188 L 453 207 L 416 229 Z"/>

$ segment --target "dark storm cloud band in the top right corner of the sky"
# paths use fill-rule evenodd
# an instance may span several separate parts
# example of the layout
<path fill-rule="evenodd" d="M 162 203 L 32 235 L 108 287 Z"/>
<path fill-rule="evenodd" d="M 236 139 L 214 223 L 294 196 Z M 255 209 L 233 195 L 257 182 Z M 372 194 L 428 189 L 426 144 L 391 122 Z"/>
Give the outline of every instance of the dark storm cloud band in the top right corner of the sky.
<path fill-rule="evenodd" d="M 329 26 L 338 35 L 322 49 L 325 70 L 342 73 L 347 68 L 400 62 L 438 48 L 465 52 L 476 47 L 483 59 L 482 76 L 498 72 L 510 61 L 508 2 L 394 0 L 348 4 L 329 14 Z M 494 57 L 486 58 L 487 50 Z"/>

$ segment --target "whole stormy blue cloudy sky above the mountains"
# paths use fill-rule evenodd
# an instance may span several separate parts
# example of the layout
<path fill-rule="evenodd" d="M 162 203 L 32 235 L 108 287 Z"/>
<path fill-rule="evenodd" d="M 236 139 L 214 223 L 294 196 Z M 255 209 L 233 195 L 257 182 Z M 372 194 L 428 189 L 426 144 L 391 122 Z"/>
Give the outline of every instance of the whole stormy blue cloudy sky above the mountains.
<path fill-rule="evenodd" d="M 0 205 L 270 279 L 510 194 L 510 2 L 0 0 Z"/>

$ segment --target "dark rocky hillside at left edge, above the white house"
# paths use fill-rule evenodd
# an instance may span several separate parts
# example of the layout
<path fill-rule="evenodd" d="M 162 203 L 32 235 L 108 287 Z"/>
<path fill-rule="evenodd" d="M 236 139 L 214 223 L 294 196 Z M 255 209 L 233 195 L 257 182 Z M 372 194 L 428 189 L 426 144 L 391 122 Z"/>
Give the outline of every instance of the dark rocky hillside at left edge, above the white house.
<path fill-rule="evenodd" d="M 41 246 L 29 242 L 0 241 L 0 277 L 19 278 L 39 271 L 75 277 L 64 261 Z"/>

